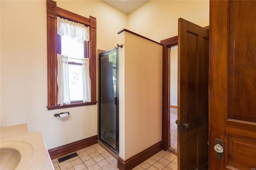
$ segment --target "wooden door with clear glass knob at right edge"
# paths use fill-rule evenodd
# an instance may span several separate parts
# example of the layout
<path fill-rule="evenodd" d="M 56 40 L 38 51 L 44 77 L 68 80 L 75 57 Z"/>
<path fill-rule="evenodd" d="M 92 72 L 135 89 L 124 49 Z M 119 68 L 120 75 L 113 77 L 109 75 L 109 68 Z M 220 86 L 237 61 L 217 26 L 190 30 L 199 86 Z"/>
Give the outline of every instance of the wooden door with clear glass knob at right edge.
<path fill-rule="evenodd" d="M 256 1 L 210 1 L 209 61 L 209 168 L 255 170 Z"/>

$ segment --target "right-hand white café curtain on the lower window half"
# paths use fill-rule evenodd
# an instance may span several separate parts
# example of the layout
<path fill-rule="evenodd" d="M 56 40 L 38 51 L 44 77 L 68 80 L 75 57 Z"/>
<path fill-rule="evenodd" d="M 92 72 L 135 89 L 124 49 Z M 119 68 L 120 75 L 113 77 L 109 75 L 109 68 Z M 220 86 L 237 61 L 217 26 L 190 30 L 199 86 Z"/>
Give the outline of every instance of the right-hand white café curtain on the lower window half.
<path fill-rule="evenodd" d="M 83 102 L 91 102 L 91 79 L 89 71 L 89 59 L 82 59 L 82 77 L 83 77 Z"/>

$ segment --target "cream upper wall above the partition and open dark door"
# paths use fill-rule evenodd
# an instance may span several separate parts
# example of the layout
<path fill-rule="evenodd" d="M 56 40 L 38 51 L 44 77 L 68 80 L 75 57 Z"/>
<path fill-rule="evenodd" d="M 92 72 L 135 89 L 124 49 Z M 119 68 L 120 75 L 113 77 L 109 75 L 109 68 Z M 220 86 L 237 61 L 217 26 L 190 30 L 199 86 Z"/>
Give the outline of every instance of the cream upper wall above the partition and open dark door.
<path fill-rule="evenodd" d="M 178 35 L 178 18 L 209 26 L 209 0 L 150 0 L 128 15 L 128 30 L 160 42 Z"/>

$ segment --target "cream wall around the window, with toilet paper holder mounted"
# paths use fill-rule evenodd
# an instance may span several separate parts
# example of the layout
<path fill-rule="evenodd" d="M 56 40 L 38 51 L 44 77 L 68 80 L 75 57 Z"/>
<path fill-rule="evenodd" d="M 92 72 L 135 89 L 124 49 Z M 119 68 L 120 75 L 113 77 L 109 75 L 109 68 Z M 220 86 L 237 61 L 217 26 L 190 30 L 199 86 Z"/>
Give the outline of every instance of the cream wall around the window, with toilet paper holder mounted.
<path fill-rule="evenodd" d="M 46 1 L 1 0 L 1 120 L 5 126 L 28 123 L 41 131 L 48 149 L 98 134 L 97 105 L 48 111 Z M 127 15 L 102 1 L 57 1 L 57 6 L 97 20 L 97 49 L 118 43 Z M 115 22 L 114 22 L 115 21 Z M 70 112 L 59 120 L 55 113 Z"/>

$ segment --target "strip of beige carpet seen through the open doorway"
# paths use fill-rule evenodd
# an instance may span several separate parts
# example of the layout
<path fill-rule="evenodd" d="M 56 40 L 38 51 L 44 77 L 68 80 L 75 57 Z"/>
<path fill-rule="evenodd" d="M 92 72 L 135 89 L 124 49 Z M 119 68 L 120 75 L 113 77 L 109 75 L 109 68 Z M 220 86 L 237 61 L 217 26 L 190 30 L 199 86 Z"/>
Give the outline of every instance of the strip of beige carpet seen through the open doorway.
<path fill-rule="evenodd" d="M 178 154 L 178 137 L 177 137 L 177 120 L 178 109 L 170 108 L 170 136 L 171 136 L 171 146 L 170 151 Z"/>

